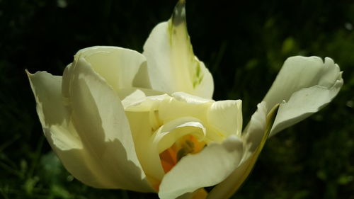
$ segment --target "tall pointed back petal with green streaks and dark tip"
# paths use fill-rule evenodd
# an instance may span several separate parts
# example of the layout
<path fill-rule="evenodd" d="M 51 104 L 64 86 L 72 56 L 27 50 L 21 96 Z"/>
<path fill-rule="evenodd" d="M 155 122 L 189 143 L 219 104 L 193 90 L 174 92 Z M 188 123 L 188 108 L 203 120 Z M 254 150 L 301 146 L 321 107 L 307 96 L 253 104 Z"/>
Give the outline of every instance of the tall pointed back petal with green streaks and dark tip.
<path fill-rule="evenodd" d="M 172 18 L 159 23 L 144 45 L 152 89 L 183 91 L 212 98 L 214 82 L 205 65 L 195 57 L 185 23 L 184 3 L 178 2 Z"/>

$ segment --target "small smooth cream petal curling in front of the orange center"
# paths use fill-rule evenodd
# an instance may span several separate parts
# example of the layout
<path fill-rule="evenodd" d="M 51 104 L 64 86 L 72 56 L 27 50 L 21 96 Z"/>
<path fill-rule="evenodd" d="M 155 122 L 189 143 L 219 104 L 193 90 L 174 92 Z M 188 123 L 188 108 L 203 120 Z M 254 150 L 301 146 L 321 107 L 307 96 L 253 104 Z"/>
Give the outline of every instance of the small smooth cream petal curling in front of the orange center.
<path fill-rule="evenodd" d="M 183 157 L 164 176 L 159 188 L 160 198 L 177 198 L 198 188 L 224 181 L 242 157 L 241 139 L 230 136 L 222 144 L 212 143 L 198 154 Z"/>

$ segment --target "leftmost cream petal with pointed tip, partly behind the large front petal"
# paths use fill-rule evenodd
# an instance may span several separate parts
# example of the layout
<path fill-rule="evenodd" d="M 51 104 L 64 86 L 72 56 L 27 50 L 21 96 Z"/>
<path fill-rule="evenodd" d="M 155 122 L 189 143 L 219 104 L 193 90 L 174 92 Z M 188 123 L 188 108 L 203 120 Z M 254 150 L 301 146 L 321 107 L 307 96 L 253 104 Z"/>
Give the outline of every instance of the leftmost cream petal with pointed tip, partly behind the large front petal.
<path fill-rule="evenodd" d="M 96 176 L 91 175 L 89 166 L 85 166 L 87 153 L 72 125 L 70 113 L 64 107 L 62 76 L 52 76 L 47 72 L 27 74 L 37 102 L 37 113 L 43 132 L 50 146 L 67 170 L 79 181 L 99 187 Z"/>

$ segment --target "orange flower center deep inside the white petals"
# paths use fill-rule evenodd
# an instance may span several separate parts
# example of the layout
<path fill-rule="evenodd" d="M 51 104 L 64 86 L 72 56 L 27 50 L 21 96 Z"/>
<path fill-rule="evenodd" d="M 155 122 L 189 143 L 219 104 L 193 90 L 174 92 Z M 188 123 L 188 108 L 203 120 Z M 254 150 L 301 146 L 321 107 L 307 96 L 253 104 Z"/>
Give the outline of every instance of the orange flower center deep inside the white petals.
<path fill-rule="evenodd" d="M 169 172 L 177 162 L 187 154 L 197 154 L 205 147 L 205 142 L 198 142 L 193 135 L 185 135 L 178 139 L 172 147 L 160 154 L 165 173 Z"/>

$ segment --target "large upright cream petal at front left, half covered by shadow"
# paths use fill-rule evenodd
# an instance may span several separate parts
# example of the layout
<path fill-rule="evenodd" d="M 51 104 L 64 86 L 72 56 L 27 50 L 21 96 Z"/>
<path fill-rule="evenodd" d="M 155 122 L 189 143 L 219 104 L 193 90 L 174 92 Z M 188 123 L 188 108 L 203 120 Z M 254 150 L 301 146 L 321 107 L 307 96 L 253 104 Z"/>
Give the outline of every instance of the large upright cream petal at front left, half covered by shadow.
<path fill-rule="evenodd" d="M 83 58 L 66 70 L 64 80 L 69 81 L 63 82 L 63 86 L 69 86 L 63 91 L 69 91 L 67 103 L 83 146 L 80 152 L 62 154 L 81 159 L 81 166 L 75 165 L 76 161 L 63 161 L 64 166 L 76 178 L 98 188 L 153 191 L 135 154 L 117 93 Z"/>

